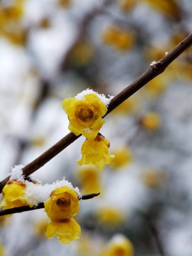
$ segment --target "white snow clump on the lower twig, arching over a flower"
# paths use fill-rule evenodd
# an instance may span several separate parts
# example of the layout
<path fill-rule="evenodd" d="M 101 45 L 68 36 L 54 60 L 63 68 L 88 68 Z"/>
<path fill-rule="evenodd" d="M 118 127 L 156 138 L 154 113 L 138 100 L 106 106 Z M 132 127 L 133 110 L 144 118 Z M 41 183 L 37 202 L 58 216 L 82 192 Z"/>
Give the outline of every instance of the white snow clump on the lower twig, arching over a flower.
<path fill-rule="evenodd" d="M 53 190 L 56 188 L 60 188 L 63 186 L 73 188 L 71 182 L 68 182 L 68 180 L 57 180 L 56 182 L 53 182 L 52 184 L 36 184 L 33 182 L 30 182 L 28 180 L 25 181 L 27 187 L 25 190 L 25 198 L 28 202 L 28 204 L 33 204 L 34 206 L 37 206 L 39 203 L 44 203 L 47 199 L 49 199 L 49 196 Z M 74 189 L 74 188 L 73 188 Z M 75 191 L 79 198 L 81 198 L 81 194 L 79 192 L 79 189 L 76 187 Z"/>

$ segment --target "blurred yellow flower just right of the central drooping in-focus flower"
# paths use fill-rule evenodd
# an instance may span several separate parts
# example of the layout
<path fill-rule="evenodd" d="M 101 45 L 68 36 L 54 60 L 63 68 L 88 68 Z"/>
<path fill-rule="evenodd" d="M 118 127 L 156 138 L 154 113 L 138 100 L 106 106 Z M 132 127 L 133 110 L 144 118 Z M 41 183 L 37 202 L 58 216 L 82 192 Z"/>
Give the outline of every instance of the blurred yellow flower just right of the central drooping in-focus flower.
<path fill-rule="evenodd" d="M 110 166 L 113 169 L 130 164 L 133 160 L 132 151 L 129 147 L 119 148 L 113 151 L 115 158 L 111 161 Z"/>

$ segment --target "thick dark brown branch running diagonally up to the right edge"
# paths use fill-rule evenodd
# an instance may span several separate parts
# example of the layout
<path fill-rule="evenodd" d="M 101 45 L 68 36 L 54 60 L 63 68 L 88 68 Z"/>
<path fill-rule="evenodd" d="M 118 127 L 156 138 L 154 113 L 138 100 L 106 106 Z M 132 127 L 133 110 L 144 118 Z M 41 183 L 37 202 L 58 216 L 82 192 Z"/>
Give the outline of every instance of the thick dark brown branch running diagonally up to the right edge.
<path fill-rule="evenodd" d="M 139 78 L 137 78 L 132 84 L 126 87 L 122 92 L 117 94 L 110 102 L 108 106 L 108 111 L 105 114 L 107 116 L 112 110 L 119 106 L 124 100 L 128 99 L 135 92 L 137 92 L 141 87 L 151 81 L 154 77 L 160 75 L 164 72 L 165 68 L 175 60 L 182 52 L 184 52 L 192 44 L 192 33 L 189 34 L 180 44 L 178 44 L 171 52 L 169 52 L 164 58 L 156 62 L 155 65 L 150 67 L 145 73 L 143 73 Z M 81 135 L 76 136 L 74 133 L 69 132 L 64 138 L 59 140 L 51 148 L 47 149 L 42 155 L 38 156 L 31 163 L 27 164 L 23 168 L 23 173 L 26 177 L 38 170 L 44 164 L 49 162 L 54 156 L 59 154 L 64 148 L 68 147 Z M 0 182 L 0 193 L 9 177 Z"/>

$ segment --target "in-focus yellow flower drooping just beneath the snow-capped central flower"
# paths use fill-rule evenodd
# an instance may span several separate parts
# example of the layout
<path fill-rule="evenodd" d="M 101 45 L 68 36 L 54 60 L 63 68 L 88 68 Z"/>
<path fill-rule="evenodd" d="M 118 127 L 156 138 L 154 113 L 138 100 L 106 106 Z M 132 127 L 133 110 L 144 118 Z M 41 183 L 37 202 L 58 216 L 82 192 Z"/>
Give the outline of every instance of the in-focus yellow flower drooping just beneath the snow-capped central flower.
<path fill-rule="evenodd" d="M 77 164 L 95 165 L 97 169 L 103 170 L 105 164 L 111 163 L 114 158 L 109 153 L 109 146 L 109 141 L 102 135 L 97 135 L 95 140 L 85 140 L 81 147 L 82 158 Z"/>

